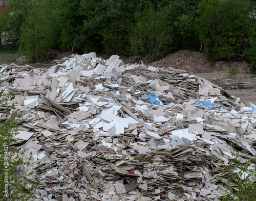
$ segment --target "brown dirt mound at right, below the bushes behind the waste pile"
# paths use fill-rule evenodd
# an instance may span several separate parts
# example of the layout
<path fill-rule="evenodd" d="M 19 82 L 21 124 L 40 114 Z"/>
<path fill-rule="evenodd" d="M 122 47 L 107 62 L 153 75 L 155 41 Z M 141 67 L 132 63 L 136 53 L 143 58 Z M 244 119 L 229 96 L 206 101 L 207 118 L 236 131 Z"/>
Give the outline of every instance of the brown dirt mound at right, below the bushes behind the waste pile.
<path fill-rule="evenodd" d="M 154 67 L 173 67 L 188 72 L 228 72 L 230 67 L 236 67 L 240 73 L 249 73 L 249 64 L 245 61 L 226 62 L 218 61 L 214 65 L 206 59 L 203 53 L 184 50 L 169 54 L 166 57 L 151 63 Z"/>

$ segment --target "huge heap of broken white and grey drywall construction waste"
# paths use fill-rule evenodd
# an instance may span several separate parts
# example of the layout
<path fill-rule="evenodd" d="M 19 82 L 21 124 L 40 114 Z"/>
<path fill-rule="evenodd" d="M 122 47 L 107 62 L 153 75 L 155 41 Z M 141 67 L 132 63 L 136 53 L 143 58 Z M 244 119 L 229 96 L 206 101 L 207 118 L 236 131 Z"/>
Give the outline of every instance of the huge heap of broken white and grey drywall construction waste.
<path fill-rule="evenodd" d="M 205 79 L 95 53 L 57 62 L 0 66 L 33 200 L 220 200 L 230 143 L 256 154 L 256 106 Z"/>

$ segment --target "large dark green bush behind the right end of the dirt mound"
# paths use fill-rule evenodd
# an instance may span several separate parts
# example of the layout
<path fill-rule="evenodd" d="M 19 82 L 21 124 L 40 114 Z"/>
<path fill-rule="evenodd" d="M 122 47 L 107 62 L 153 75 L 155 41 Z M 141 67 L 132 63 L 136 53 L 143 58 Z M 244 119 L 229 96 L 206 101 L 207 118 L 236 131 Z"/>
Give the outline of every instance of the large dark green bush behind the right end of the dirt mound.
<path fill-rule="evenodd" d="M 248 41 L 248 10 L 244 1 L 216 0 L 203 2 L 199 10 L 199 33 L 202 47 L 207 58 L 212 62 L 227 59 L 238 54 Z"/>

